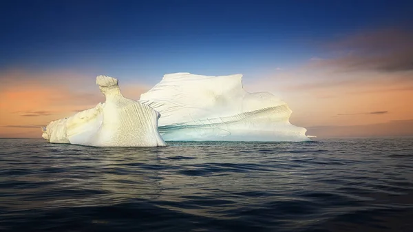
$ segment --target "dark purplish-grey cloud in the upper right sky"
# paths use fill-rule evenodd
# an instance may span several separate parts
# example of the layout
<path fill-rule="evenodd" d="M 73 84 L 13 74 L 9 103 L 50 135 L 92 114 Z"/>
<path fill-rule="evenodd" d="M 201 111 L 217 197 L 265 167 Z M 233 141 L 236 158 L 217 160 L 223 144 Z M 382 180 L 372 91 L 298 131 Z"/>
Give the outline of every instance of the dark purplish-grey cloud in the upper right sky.
<path fill-rule="evenodd" d="M 388 28 L 362 32 L 326 45 L 333 59 L 312 59 L 313 65 L 335 67 L 338 72 L 413 70 L 413 32 Z M 338 55 L 337 55 L 338 54 Z M 413 78 L 413 76 L 410 76 Z"/>

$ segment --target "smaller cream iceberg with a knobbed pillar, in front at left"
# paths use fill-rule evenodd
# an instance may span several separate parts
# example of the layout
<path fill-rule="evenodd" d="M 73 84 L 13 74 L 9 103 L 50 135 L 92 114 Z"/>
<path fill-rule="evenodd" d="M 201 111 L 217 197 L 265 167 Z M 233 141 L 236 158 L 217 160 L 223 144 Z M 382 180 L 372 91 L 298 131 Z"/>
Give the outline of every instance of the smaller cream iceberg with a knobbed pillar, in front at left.
<path fill-rule="evenodd" d="M 156 147 L 165 145 L 158 131 L 159 113 L 120 94 L 118 80 L 98 76 L 96 84 L 105 103 L 69 118 L 54 120 L 43 128 L 50 143 L 96 147 Z"/>

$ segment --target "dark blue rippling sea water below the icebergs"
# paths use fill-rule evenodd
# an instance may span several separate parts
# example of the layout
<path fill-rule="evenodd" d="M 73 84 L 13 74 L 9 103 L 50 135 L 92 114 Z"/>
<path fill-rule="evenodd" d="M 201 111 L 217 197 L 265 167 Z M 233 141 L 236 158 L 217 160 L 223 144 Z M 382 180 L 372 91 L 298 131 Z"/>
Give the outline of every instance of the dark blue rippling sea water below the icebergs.
<path fill-rule="evenodd" d="M 0 139 L 0 231 L 413 231 L 413 138 Z"/>

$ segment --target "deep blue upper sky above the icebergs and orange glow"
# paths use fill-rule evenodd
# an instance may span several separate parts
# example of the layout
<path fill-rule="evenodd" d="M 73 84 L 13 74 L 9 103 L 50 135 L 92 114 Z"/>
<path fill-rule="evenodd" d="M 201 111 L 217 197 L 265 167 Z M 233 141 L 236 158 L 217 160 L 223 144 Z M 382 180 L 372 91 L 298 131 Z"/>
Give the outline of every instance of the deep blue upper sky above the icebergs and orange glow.
<path fill-rule="evenodd" d="M 0 69 L 156 83 L 170 72 L 253 78 L 324 41 L 412 19 L 412 1 L 6 1 Z"/>

